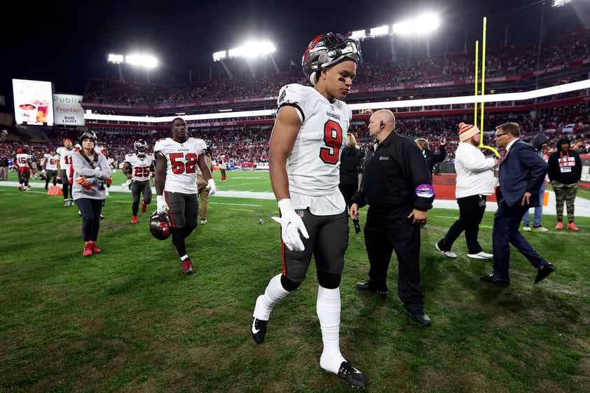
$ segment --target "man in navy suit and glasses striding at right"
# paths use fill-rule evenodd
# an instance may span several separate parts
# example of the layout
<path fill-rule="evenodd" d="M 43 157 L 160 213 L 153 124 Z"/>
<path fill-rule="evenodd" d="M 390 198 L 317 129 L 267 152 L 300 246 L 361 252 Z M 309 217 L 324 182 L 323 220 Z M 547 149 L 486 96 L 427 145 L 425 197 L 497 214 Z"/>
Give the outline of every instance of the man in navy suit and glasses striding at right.
<path fill-rule="evenodd" d="M 539 191 L 549 169 L 533 146 L 520 137 L 521 129 L 516 123 L 496 127 L 496 145 L 505 151 L 498 167 L 500 190 L 492 230 L 493 273 L 481 277 L 481 281 L 501 286 L 510 285 L 510 243 L 537 269 L 535 284 L 555 270 L 519 232 L 525 212 L 540 203 Z"/>

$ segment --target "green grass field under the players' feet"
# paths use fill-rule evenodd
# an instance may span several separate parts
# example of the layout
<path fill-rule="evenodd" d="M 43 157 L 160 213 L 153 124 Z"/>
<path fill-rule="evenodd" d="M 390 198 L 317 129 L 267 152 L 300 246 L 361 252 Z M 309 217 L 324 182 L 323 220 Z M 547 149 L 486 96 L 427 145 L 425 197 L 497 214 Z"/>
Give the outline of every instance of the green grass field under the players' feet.
<path fill-rule="evenodd" d="M 270 192 L 268 172 L 228 172 L 218 190 Z M 11 180 L 15 174 L 11 173 Z M 114 175 L 98 245 L 82 256 L 81 219 L 43 183 L 24 193 L 0 182 L 0 392 L 350 392 L 319 366 L 313 270 L 273 310 L 263 345 L 249 336 L 256 296 L 280 273 L 273 199 L 210 199 L 209 223 L 187 240 L 184 276 L 170 241 L 154 239 L 149 213 L 132 225 L 130 193 Z M 580 196 L 590 198 L 588 191 Z M 362 213 L 366 210 L 362 209 Z M 397 298 L 359 293 L 367 278 L 362 233 L 350 231 L 342 277 L 341 350 L 369 377 L 366 392 L 590 392 L 590 218 L 579 233 L 526 233 L 557 267 L 535 270 L 512 252 L 512 285 L 483 283 L 491 262 L 434 249 L 457 217 L 432 209 L 422 232 L 425 310 L 420 328 Z M 264 223 L 260 224 L 259 219 Z M 493 212 L 479 240 L 491 251 Z M 364 226 L 364 215 L 361 225 Z"/>

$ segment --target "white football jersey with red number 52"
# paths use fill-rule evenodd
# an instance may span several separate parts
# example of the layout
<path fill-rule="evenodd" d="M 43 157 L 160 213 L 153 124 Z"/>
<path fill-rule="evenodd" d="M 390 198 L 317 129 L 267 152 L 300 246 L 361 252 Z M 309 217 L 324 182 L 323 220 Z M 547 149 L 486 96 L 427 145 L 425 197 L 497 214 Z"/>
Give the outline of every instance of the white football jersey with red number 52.
<path fill-rule="evenodd" d="M 159 139 L 153 146 L 153 155 L 162 153 L 166 158 L 166 184 L 170 193 L 197 193 L 197 169 L 199 156 L 207 146 L 203 139 L 188 138 L 179 143 L 172 138 Z"/>

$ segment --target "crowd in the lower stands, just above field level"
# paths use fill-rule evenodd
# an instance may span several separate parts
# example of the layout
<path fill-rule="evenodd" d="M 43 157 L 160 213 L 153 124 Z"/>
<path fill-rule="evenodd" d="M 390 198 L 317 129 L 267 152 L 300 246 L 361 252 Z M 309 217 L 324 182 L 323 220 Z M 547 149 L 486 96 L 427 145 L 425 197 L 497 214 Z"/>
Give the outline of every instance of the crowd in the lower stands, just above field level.
<path fill-rule="evenodd" d="M 439 141 L 446 137 L 446 162 L 454 162 L 454 152 L 459 142 L 458 124 L 465 118 L 398 118 L 397 132 L 412 139 L 425 138 L 430 142 L 430 149 L 436 151 Z M 494 130 L 495 126 L 508 121 L 515 121 L 521 125 L 523 140 L 532 142 L 538 132 L 545 132 L 549 137 L 549 144 L 555 144 L 557 139 L 563 136 L 570 137 L 572 149 L 579 149 L 580 153 L 590 153 L 590 107 L 585 111 L 570 111 L 569 113 L 556 113 L 551 116 L 531 118 L 525 113 L 516 113 L 512 116 L 486 116 L 484 118 L 484 130 Z M 264 165 L 268 163 L 268 139 L 271 126 L 268 127 L 230 127 L 221 130 L 191 131 L 194 137 L 200 137 L 212 142 L 212 153 L 219 160 L 224 155 L 229 163 L 254 163 Z M 357 137 L 357 142 L 364 151 L 373 143 L 369 137 L 369 129 L 366 123 L 353 123 L 350 128 Z M 78 140 L 81 130 L 55 129 L 46 132 L 51 143 L 35 142 L 27 144 L 28 150 L 41 162 L 44 153 L 62 146 L 62 139 Z M 495 146 L 494 132 L 484 133 L 483 144 Z M 134 153 L 133 142 L 144 139 L 148 146 L 153 146 L 156 140 L 170 137 L 170 130 L 153 130 L 151 132 L 99 132 L 98 146 L 102 146 L 107 156 L 114 158 L 118 163 L 123 163 L 125 155 Z M 22 147 L 22 142 L 1 142 L 0 155 L 13 158 L 16 149 Z"/>

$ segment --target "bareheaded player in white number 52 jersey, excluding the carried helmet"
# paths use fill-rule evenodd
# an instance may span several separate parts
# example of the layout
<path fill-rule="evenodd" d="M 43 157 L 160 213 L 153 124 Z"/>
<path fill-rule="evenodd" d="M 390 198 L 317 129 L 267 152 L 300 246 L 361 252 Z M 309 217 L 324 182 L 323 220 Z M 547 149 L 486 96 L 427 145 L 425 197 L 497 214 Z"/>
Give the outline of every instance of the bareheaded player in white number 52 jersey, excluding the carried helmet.
<path fill-rule="evenodd" d="M 193 263 L 186 254 L 185 239 L 197 227 L 199 202 L 197 199 L 197 166 L 209 187 L 209 195 L 217 191 L 211 170 L 205 160 L 203 139 L 188 137 L 183 118 L 172 120 L 172 138 L 159 139 L 153 147 L 156 156 L 157 212 L 170 214 L 172 244 L 182 261 L 182 273 L 193 273 Z"/>

